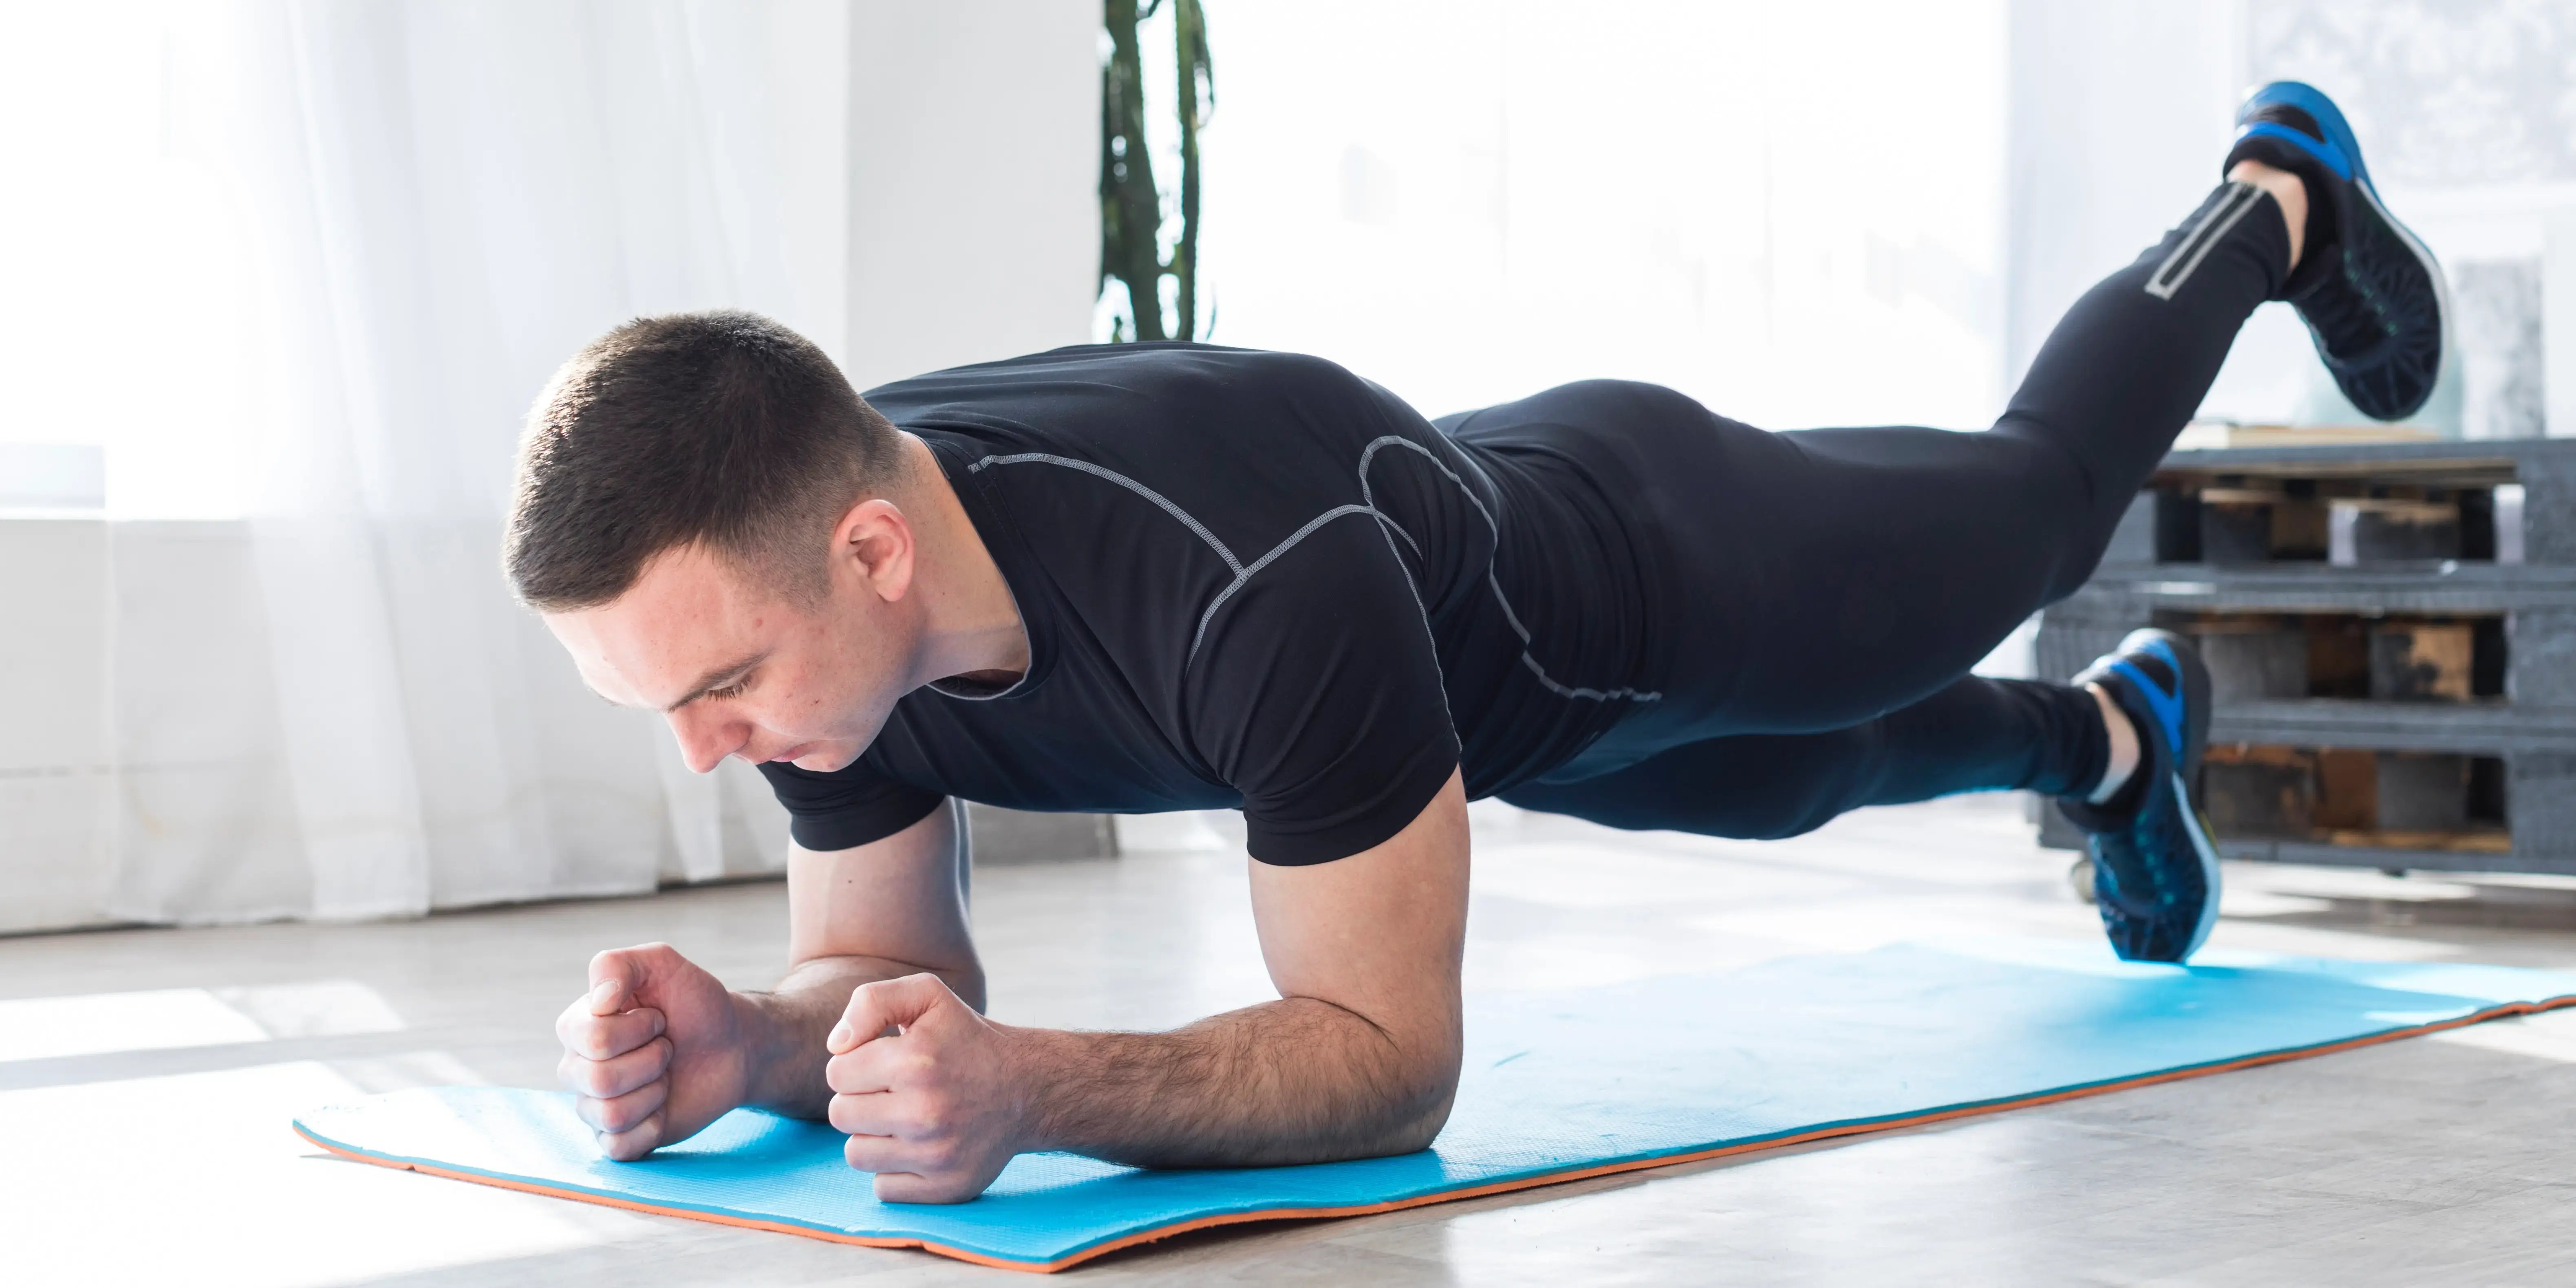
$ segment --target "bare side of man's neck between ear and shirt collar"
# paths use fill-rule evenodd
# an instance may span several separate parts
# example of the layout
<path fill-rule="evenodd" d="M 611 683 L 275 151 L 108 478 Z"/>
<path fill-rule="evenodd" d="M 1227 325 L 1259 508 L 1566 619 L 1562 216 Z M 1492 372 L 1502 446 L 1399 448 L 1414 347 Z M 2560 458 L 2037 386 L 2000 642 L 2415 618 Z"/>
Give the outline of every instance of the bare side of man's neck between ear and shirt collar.
<path fill-rule="evenodd" d="M 1020 605 L 992 562 L 984 533 L 976 531 L 940 471 L 938 453 L 914 435 L 902 435 L 912 464 L 914 567 L 912 590 L 922 595 L 927 631 L 914 683 L 963 677 L 981 685 L 1007 685 L 1028 672 L 1028 626 Z"/>

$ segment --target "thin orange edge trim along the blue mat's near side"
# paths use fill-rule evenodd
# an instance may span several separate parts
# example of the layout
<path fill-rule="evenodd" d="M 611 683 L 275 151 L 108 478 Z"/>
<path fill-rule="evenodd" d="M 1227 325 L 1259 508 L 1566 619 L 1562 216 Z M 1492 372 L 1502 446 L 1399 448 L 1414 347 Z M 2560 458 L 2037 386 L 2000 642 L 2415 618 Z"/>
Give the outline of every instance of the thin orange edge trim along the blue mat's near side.
<path fill-rule="evenodd" d="M 1757 1154 L 1762 1149 L 1788 1149 L 1793 1144 L 1829 1141 L 1834 1136 L 1868 1136 L 1873 1131 L 1899 1131 L 1899 1128 L 1909 1128 L 1909 1126 L 1940 1123 L 1940 1121 L 1947 1121 L 1947 1118 L 1976 1118 L 1976 1115 L 1984 1115 L 1984 1113 L 2017 1110 L 2017 1108 L 2027 1108 L 2027 1105 L 2053 1105 L 2058 1100 L 2079 1100 L 2079 1097 L 2087 1097 L 2087 1095 L 2105 1095 L 2105 1092 L 2125 1092 L 2125 1090 L 2136 1090 L 2136 1087 L 2154 1087 L 2159 1082 L 2182 1082 L 2187 1077 L 2226 1074 L 2226 1072 L 2236 1072 L 2236 1069 L 2254 1069 L 2254 1066 L 2262 1066 L 2262 1064 L 2282 1064 L 2282 1061 L 2308 1059 L 2308 1056 L 2331 1056 L 2336 1051 L 2352 1051 L 2357 1046 L 2378 1046 L 2378 1043 L 2398 1041 L 2398 1038 L 2419 1038 L 2424 1033 L 2439 1033 L 2445 1028 L 2465 1028 L 2465 1025 L 2476 1025 L 2476 1023 L 2486 1023 L 2486 1020 L 2501 1020 L 2506 1015 L 2537 1015 L 2543 1010 L 2558 1010 L 2558 1007 L 2568 1007 L 2568 1005 L 2576 1005 L 2576 994 L 2571 994 L 2571 997 L 2550 997 L 2545 1002 L 2506 1002 L 2501 1007 L 2481 1010 L 2476 1015 L 2463 1015 L 2458 1020 L 2442 1020 L 2442 1023 L 2414 1025 L 2414 1028 L 2396 1028 L 2396 1030 L 2388 1030 L 2388 1033 L 2370 1033 L 2365 1038 L 2344 1038 L 2339 1043 L 2324 1043 L 2324 1046 L 2300 1046 L 2300 1048 L 2293 1048 L 2293 1051 L 2264 1051 L 2259 1056 L 2244 1056 L 2244 1059 L 2231 1059 L 2231 1061 L 2218 1061 L 2218 1064 L 2197 1064 L 2197 1066 L 2190 1066 L 2190 1069 L 2166 1069 L 2161 1074 L 2138 1074 L 2138 1077 L 2130 1077 L 2130 1079 L 2099 1082 L 2099 1084 L 2092 1084 L 2092 1087 L 2074 1087 L 2074 1090 L 2066 1090 L 2066 1092 L 2025 1095 L 2025 1097 L 2017 1097 L 2017 1100 L 1996 1100 L 1996 1103 L 1989 1103 L 1989 1105 L 1968 1105 L 1968 1108 L 1955 1108 L 1955 1110 L 1929 1110 L 1929 1113 L 1917 1113 L 1917 1115 L 1909 1115 L 1909 1118 L 1886 1118 L 1886 1121 L 1875 1121 L 1875 1123 L 1824 1126 L 1824 1128 L 1814 1128 L 1814 1131 L 1801 1131 L 1795 1136 L 1775 1136 L 1775 1139 L 1767 1139 L 1767 1141 L 1747 1141 L 1747 1144 L 1723 1144 L 1723 1146 L 1713 1146 L 1713 1149 L 1695 1149 L 1695 1151 L 1687 1151 L 1687 1154 L 1659 1154 L 1659 1157 L 1651 1157 L 1651 1159 L 1605 1162 L 1605 1164 L 1595 1164 L 1595 1167 L 1569 1167 L 1564 1172 L 1546 1172 L 1546 1175 L 1517 1177 L 1517 1180 L 1497 1180 L 1497 1182 L 1489 1182 L 1489 1185 L 1468 1185 L 1463 1190 L 1440 1190 L 1435 1195 L 1391 1198 L 1391 1200 L 1383 1200 L 1383 1203 L 1350 1203 L 1350 1206 L 1340 1206 L 1340 1208 L 1265 1208 L 1265 1211 L 1239 1211 L 1239 1213 L 1198 1216 L 1193 1221 L 1175 1221 L 1170 1226 L 1157 1226 L 1157 1229 L 1136 1231 L 1136 1234 L 1128 1234 L 1128 1236 L 1121 1236 L 1121 1239 L 1110 1239 L 1105 1244 L 1084 1247 L 1082 1252 L 1072 1252 L 1072 1255 L 1056 1257 L 1051 1262 L 1015 1262 L 1015 1260 L 1007 1260 L 1007 1257 L 992 1257 L 992 1255 L 984 1255 L 984 1252 L 969 1252 L 963 1247 L 935 1244 L 930 1239 L 884 1239 L 884 1236 L 868 1236 L 868 1234 L 837 1234 L 837 1231 L 827 1231 L 827 1229 L 791 1226 L 786 1221 L 760 1221 L 755 1216 L 724 1216 L 724 1213 L 708 1213 L 708 1211 L 659 1208 L 659 1206 L 652 1206 L 652 1203 L 636 1203 L 631 1198 L 595 1195 L 595 1193 L 582 1193 L 582 1190 L 556 1190 L 551 1185 L 536 1185 L 536 1182 L 526 1182 L 526 1180 L 484 1177 L 484 1175 L 471 1175 L 471 1172 L 451 1172 L 446 1167 L 430 1167 L 430 1164 L 420 1164 L 420 1162 L 379 1159 L 379 1157 L 371 1157 L 371 1154 L 358 1154 L 358 1151 L 350 1151 L 350 1149 L 340 1149 L 340 1146 L 335 1146 L 330 1141 L 314 1139 L 301 1126 L 296 1128 L 296 1136 L 304 1136 L 307 1141 L 312 1141 L 312 1144 L 317 1144 L 317 1146 L 322 1146 L 322 1149 L 327 1149 L 332 1154 L 340 1154 L 343 1159 L 371 1162 L 376 1167 L 394 1167 L 399 1172 L 425 1172 L 425 1175 L 433 1175 L 433 1177 L 471 1180 L 474 1185 L 497 1185 L 502 1190 L 523 1190 L 523 1193 L 531 1193 L 531 1195 L 569 1198 L 569 1200 L 577 1200 L 577 1203 L 598 1203 L 603 1208 L 626 1208 L 626 1211 L 641 1211 L 641 1213 L 654 1213 L 654 1216 L 680 1216 L 680 1218 L 688 1218 L 688 1221 L 714 1221 L 719 1226 L 742 1226 L 742 1229 L 768 1229 L 768 1231 L 778 1231 L 778 1234 L 801 1234 L 806 1239 L 824 1239 L 824 1242 L 835 1242 L 835 1244 L 917 1247 L 922 1252 L 938 1252 L 940 1257 L 956 1257 L 961 1262 L 992 1265 L 992 1267 L 999 1267 L 999 1270 L 1033 1270 L 1033 1273 L 1048 1275 L 1048 1273 L 1056 1273 L 1056 1270 L 1066 1270 L 1072 1265 L 1082 1265 L 1082 1262 L 1087 1262 L 1092 1257 L 1103 1257 L 1103 1255 L 1118 1252 L 1123 1247 L 1151 1244 L 1154 1239 L 1170 1239 L 1175 1234 L 1188 1234 L 1193 1229 L 1236 1226 L 1236 1224 L 1244 1224 L 1244 1221 L 1301 1221 L 1301 1218 L 1327 1218 L 1327 1216 L 1376 1216 L 1376 1213 L 1388 1213 L 1388 1211 L 1401 1211 L 1401 1208 L 1427 1208 L 1432 1203 L 1455 1203 L 1461 1198 L 1484 1198 L 1484 1195 L 1499 1195 L 1499 1193 L 1512 1193 L 1512 1190 L 1535 1190 L 1540 1185 L 1564 1185 L 1569 1180 L 1607 1177 L 1607 1175 L 1615 1175 L 1615 1172 L 1643 1172 L 1649 1167 L 1680 1167 L 1685 1162 L 1708 1162 L 1708 1159 L 1723 1159 L 1723 1157 L 1731 1157 L 1731 1154 Z"/>

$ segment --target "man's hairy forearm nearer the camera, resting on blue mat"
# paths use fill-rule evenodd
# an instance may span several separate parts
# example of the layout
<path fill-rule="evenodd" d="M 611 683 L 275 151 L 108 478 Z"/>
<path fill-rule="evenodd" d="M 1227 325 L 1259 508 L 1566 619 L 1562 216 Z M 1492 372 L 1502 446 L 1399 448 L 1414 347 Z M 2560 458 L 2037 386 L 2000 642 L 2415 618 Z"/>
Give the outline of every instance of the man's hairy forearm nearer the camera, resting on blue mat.
<path fill-rule="evenodd" d="M 1458 1033 L 1401 1043 L 1309 997 L 1172 1033 L 1018 1030 L 1036 1139 L 1133 1167 L 1260 1167 L 1422 1149 L 1448 1121 Z"/>

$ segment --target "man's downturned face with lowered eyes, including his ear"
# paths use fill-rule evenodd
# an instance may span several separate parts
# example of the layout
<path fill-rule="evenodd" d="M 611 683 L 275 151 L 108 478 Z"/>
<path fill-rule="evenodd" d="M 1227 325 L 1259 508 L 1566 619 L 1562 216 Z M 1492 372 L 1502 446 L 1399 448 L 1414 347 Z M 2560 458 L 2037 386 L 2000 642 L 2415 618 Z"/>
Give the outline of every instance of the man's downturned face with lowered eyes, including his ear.
<path fill-rule="evenodd" d="M 806 608 L 703 546 L 677 546 L 616 600 L 546 613 L 546 626 L 603 698 L 662 711 L 690 770 L 729 755 L 837 770 L 909 688 L 909 546 L 835 559 L 832 592 Z"/>

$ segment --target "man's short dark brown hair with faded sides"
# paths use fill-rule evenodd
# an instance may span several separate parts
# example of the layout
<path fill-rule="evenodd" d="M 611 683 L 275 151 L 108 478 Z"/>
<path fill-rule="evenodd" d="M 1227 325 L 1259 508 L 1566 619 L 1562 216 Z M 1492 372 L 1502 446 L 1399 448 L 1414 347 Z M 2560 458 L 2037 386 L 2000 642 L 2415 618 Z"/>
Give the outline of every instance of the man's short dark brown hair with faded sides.
<path fill-rule="evenodd" d="M 595 608 L 703 544 L 817 603 L 832 526 L 899 471 L 894 425 L 811 340 L 747 312 L 639 317 L 528 412 L 502 564 L 538 611 Z"/>

